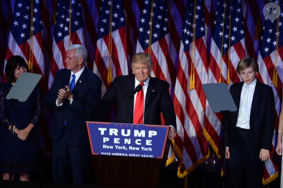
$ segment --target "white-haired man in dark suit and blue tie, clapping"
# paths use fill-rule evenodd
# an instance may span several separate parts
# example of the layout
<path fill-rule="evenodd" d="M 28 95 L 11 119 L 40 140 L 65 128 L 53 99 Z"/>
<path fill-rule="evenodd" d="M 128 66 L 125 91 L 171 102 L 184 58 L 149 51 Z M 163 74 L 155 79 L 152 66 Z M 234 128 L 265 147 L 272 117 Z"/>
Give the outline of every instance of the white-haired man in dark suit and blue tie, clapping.
<path fill-rule="evenodd" d="M 70 46 L 66 68 L 57 71 L 45 97 L 46 104 L 54 109 L 50 124 L 54 183 L 89 183 L 91 150 L 85 122 L 94 120 L 101 79 L 84 66 L 86 58 L 83 46 Z"/>

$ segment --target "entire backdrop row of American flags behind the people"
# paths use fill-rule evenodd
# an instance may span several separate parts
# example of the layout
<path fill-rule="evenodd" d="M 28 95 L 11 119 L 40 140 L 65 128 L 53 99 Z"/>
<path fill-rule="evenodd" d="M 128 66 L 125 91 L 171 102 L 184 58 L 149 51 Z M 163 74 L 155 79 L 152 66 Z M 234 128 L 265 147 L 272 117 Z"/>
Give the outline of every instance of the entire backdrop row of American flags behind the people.
<path fill-rule="evenodd" d="M 265 2 L 266 1 L 266 2 Z M 282 103 L 283 14 L 268 9 L 271 0 L 2 0 L 0 1 L 1 81 L 9 57 L 25 57 L 30 70 L 41 74 L 46 94 L 57 70 L 64 68 L 68 46 L 88 50 L 87 67 L 102 80 L 102 94 L 118 75 L 132 74 L 130 57 L 153 57 L 152 76 L 170 84 L 178 135 L 167 165 L 180 159 L 185 177 L 205 162 L 209 145 L 222 158 L 220 113 L 213 113 L 202 90 L 204 83 L 241 81 L 236 72 L 242 57 L 258 60 L 257 78 L 272 86 L 277 116 Z M 274 0 L 283 8 L 280 0 Z M 268 12 L 269 11 L 269 12 Z M 264 13 L 278 14 L 270 20 Z M 50 150 L 48 116 L 41 126 L 43 150 Z M 274 125 L 273 147 L 277 142 Z M 274 150 L 265 163 L 263 183 L 278 177 L 281 160 Z"/>

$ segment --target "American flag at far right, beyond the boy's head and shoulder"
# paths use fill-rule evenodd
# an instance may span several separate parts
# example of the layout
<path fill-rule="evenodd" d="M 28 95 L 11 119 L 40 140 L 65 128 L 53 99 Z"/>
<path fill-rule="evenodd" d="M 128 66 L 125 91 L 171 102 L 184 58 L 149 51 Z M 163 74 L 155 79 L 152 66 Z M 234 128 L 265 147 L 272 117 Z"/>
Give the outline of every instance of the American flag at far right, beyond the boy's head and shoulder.
<path fill-rule="evenodd" d="M 279 6 L 279 5 L 278 5 Z M 281 10 L 283 6 L 280 5 Z M 263 10 L 264 11 L 264 10 Z M 268 10 L 265 10 L 268 11 Z M 260 67 L 261 81 L 273 88 L 275 98 L 275 112 L 280 114 L 282 99 L 282 79 L 283 79 L 283 62 L 282 50 L 283 40 L 280 35 L 283 33 L 283 13 L 276 12 L 278 19 L 264 19 L 263 35 L 261 37 L 260 53 L 258 63 Z M 278 120 L 278 119 L 277 119 Z M 277 122 L 277 121 L 276 121 Z M 277 124 L 274 125 L 273 148 L 276 147 Z M 268 184 L 278 177 L 278 155 L 274 154 L 274 150 L 270 152 L 270 159 L 265 163 L 263 183 Z"/>

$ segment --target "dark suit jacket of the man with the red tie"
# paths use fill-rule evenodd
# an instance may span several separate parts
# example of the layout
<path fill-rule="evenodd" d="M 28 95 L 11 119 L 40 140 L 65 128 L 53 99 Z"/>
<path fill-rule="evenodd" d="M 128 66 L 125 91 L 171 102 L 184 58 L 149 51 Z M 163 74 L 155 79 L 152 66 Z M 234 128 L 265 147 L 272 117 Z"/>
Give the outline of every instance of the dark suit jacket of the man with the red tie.
<path fill-rule="evenodd" d="M 134 74 L 115 77 L 112 86 L 104 94 L 99 105 L 102 117 L 109 112 L 115 102 L 117 105 L 117 115 L 124 107 L 134 88 Z M 133 112 L 134 97 L 130 100 L 116 122 L 133 123 Z M 176 128 L 176 114 L 169 95 L 169 84 L 156 77 L 150 77 L 145 95 L 143 123 L 147 125 L 161 125 L 161 113 L 163 114 L 165 125 L 172 125 Z"/>

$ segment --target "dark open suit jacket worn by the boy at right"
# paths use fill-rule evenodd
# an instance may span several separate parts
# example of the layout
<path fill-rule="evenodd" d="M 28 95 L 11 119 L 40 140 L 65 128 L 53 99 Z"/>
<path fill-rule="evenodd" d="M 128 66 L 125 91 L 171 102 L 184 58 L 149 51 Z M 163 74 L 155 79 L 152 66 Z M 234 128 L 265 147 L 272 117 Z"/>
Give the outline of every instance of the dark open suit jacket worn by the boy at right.
<path fill-rule="evenodd" d="M 236 134 L 236 124 L 239 114 L 243 82 L 231 85 L 230 93 L 237 106 L 236 112 L 230 113 L 228 121 L 228 146 L 233 147 Z M 275 122 L 275 102 L 272 88 L 257 80 L 250 113 L 250 140 L 253 150 L 259 153 L 261 149 L 271 150 Z"/>

